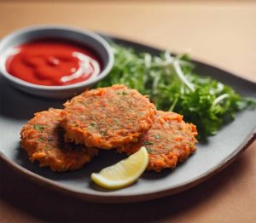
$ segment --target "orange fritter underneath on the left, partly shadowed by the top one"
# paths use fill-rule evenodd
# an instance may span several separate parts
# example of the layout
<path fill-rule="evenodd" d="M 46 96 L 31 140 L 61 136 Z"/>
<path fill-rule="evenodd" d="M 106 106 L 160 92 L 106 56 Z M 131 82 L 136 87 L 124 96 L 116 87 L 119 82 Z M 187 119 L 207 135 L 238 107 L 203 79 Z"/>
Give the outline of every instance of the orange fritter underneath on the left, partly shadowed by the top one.
<path fill-rule="evenodd" d="M 40 163 L 40 167 L 49 166 L 53 171 L 80 169 L 98 150 L 66 143 L 60 114 L 60 109 L 36 113 L 21 129 L 21 147 L 32 162 Z"/>

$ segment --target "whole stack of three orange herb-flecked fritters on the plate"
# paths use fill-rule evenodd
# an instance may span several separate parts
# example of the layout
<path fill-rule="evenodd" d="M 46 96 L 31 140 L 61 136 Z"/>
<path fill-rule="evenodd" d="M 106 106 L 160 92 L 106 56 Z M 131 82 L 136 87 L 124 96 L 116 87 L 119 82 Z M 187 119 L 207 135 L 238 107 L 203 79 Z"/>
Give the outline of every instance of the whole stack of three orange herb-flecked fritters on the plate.
<path fill-rule="evenodd" d="M 87 90 L 64 106 L 36 113 L 20 133 L 30 160 L 54 171 L 79 169 L 99 149 L 131 154 L 145 146 L 148 169 L 158 172 L 195 152 L 195 125 L 156 111 L 148 97 L 124 85 Z"/>

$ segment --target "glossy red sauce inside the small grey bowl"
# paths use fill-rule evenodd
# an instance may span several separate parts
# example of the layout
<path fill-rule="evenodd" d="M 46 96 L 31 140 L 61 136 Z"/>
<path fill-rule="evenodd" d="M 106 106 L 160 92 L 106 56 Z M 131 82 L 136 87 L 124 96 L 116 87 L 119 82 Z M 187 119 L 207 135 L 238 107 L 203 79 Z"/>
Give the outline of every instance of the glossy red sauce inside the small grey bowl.
<path fill-rule="evenodd" d="M 9 74 L 29 83 L 61 86 L 96 77 L 101 63 L 93 51 L 79 44 L 41 39 L 12 49 L 6 68 Z"/>

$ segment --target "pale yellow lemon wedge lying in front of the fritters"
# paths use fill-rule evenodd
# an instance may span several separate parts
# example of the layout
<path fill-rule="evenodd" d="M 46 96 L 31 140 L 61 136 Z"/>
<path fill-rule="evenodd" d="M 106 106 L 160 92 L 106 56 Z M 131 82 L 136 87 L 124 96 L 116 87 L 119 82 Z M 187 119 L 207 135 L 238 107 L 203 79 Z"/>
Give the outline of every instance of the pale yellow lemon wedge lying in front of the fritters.
<path fill-rule="evenodd" d="M 98 186 L 119 189 L 135 182 L 148 166 L 148 152 L 145 147 L 130 157 L 90 175 Z"/>

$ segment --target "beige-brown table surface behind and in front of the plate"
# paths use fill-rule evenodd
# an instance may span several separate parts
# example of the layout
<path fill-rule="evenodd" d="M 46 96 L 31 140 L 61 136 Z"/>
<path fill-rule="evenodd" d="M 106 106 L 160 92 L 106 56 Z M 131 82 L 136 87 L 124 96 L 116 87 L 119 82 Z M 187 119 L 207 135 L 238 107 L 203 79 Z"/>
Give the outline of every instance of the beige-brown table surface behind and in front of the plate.
<path fill-rule="evenodd" d="M 6 1 L 0 38 L 23 26 L 64 24 L 148 43 L 256 82 L 253 1 Z M 144 203 L 92 204 L 34 185 L 1 163 L 0 222 L 256 222 L 256 143 L 187 192 Z"/>

